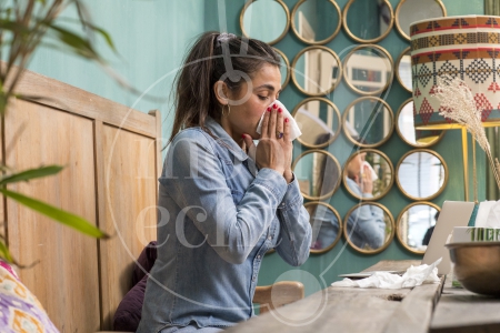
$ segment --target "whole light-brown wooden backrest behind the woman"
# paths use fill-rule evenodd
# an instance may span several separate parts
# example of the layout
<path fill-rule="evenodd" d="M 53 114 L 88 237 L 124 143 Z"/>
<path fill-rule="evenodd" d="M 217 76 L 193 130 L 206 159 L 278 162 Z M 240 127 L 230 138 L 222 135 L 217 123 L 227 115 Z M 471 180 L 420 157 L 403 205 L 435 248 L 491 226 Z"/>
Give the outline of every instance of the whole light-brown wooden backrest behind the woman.
<path fill-rule="evenodd" d="M 61 332 L 111 329 L 130 289 L 133 260 L 157 239 L 157 186 L 161 172 L 160 113 L 149 114 L 26 72 L 1 138 L 16 170 L 66 168 L 56 176 L 9 189 L 84 216 L 112 238 L 99 241 L 1 200 L 0 232 L 22 264 L 21 281 L 38 296 Z"/>

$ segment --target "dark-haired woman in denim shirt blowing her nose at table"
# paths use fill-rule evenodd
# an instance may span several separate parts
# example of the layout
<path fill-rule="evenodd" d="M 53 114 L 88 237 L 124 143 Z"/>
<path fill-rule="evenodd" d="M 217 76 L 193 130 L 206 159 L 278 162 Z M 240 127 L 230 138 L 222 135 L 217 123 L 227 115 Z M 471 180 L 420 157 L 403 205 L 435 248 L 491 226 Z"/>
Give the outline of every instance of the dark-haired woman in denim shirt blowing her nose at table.
<path fill-rule="evenodd" d="M 228 33 L 204 33 L 190 50 L 176 81 L 158 259 L 138 332 L 218 332 L 248 320 L 266 252 L 296 266 L 308 259 L 290 120 L 273 105 L 279 62 L 268 44 Z"/>

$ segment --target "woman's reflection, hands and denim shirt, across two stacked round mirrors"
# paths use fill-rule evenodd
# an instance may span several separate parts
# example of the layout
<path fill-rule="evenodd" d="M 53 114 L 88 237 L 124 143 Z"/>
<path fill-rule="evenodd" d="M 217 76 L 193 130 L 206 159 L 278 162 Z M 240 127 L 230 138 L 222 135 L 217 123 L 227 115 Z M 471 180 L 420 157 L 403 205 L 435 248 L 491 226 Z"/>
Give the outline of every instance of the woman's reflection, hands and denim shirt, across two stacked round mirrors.
<path fill-rule="evenodd" d="M 356 153 L 346 167 L 346 184 L 359 198 L 373 198 L 371 170 L 364 162 L 367 153 Z M 356 209 L 348 219 L 350 241 L 360 249 L 380 249 L 386 241 L 386 222 L 383 211 L 376 205 L 366 204 Z"/>

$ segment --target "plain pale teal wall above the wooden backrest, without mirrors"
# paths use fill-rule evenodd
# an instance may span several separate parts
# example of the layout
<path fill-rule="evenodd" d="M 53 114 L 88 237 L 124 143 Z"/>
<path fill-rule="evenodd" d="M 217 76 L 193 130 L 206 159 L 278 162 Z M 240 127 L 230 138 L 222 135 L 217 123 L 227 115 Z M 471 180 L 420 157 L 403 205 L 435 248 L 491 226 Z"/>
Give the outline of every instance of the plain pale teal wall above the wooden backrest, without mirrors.
<path fill-rule="evenodd" d="M 148 91 L 159 101 L 140 99 L 122 89 L 102 69 L 86 60 L 40 49 L 29 69 L 67 82 L 143 112 L 159 109 L 163 138 L 171 130 L 168 114 L 171 84 L 188 46 L 204 31 L 204 1 L 106 0 L 86 1 L 93 22 L 107 30 L 119 56 L 99 42 L 110 67 L 141 93 Z M 74 12 L 63 12 L 74 17 Z"/>

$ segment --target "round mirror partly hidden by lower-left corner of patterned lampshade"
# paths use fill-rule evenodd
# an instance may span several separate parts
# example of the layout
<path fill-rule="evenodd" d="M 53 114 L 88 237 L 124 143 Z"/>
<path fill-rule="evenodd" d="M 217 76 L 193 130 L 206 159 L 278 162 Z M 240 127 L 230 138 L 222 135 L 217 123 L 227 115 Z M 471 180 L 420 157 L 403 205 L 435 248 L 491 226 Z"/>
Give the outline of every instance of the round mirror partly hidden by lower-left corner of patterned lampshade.
<path fill-rule="evenodd" d="M 444 135 L 444 131 L 441 130 L 417 130 L 414 128 L 413 99 L 411 98 L 401 104 L 396 119 L 396 130 L 399 137 L 412 147 L 431 147 Z"/>

